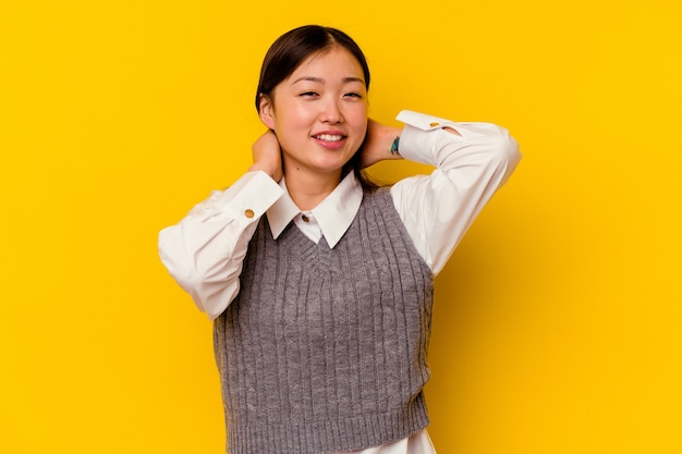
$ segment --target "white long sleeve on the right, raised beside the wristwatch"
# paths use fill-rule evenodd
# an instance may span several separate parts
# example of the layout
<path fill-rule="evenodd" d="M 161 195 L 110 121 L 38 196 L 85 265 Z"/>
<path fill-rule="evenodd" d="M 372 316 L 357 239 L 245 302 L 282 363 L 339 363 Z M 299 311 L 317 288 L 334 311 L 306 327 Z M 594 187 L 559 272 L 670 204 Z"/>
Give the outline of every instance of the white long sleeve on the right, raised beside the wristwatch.
<path fill-rule="evenodd" d="M 521 154 L 507 130 L 495 124 L 454 123 L 412 111 L 398 120 L 405 122 L 401 156 L 436 167 L 430 175 L 395 183 L 391 194 L 415 246 L 437 274 Z"/>

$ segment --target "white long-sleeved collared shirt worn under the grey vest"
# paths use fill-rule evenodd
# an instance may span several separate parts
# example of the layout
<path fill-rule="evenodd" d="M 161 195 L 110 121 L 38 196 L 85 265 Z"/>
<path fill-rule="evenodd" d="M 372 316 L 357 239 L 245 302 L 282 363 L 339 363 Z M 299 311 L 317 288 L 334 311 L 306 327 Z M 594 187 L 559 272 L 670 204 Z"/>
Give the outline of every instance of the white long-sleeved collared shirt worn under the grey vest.
<path fill-rule="evenodd" d="M 393 204 L 426 263 L 437 274 L 480 209 L 513 172 L 521 155 L 509 133 L 489 123 L 454 123 L 402 111 L 400 154 L 431 164 L 430 175 L 404 179 L 391 187 Z M 442 128 L 452 127 L 460 136 Z M 267 213 L 277 238 L 293 220 L 310 240 L 331 248 L 353 221 L 363 189 L 351 173 L 317 207 L 302 212 L 265 172 L 248 172 L 230 188 L 214 192 L 176 225 L 159 234 L 161 261 L 196 306 L 212 320 L 239 293 L 248 242 Z M 346 454 L 346 453 L 337 453 Z M 435 454 L 426 430 L 355 454 Z"/>

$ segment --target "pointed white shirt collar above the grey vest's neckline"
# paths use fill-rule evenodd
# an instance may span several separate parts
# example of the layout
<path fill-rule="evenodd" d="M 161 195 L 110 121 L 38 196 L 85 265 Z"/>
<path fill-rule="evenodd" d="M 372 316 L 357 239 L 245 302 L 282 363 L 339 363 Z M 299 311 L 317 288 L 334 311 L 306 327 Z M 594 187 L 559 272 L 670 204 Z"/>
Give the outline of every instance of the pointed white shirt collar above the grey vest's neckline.
<path fill-rule="evenodd" d="M 289 195 L 283 177 L 279 184 L 284 189 L 284 194 L 267 211 L 270 232 L 276 240 L 291 220 L 301 212 L 301 209 L 296 207 Z M 341 183 L 327 198 L 310 210 L 329 247 L 333 248 L 345 234 L 355 214 L 357 214 L 362 201 L 363 188 L 351 172 L 341 180 Z"/>

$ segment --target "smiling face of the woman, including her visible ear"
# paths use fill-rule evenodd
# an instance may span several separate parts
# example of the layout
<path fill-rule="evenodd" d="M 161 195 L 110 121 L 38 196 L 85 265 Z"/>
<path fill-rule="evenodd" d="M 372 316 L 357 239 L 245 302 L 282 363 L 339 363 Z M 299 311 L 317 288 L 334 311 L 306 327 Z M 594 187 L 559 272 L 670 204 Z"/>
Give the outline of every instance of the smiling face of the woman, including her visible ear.
<path fill-rule="evenodd" d="M 270 98 L 261 98 L 260 118 L 277 134 L 288 175 L 297 171 L 340 177 L 367 132 L 360 63 L 342 47 L 308 57 Z"/>

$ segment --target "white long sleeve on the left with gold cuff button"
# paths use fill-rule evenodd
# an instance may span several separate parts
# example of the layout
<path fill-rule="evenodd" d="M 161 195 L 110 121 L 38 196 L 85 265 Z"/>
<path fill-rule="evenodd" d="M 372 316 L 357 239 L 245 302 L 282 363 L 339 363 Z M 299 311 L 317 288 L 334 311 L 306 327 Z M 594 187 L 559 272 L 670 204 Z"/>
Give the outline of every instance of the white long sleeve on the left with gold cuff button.
<path fill-rule="evenodd" d="M 159 233 L 162 263 L 211 320 L 239 293 L 248 242 L 260 217 L 282 194 L 265 172 L 248 172 Z"/>

